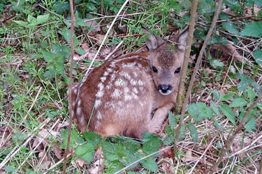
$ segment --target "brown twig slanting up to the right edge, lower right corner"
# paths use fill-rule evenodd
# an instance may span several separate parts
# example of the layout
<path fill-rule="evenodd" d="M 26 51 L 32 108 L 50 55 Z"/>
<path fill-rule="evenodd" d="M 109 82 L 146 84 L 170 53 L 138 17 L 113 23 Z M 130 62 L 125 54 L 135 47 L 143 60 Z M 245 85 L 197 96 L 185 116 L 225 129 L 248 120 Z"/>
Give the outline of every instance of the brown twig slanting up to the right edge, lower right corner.
<path fill-rule="evenodd" d="M 229 138 L 226 141 L 226 143 L 224 145 L 224 148 L 221 150 L 221 154 L 219 155 L 219 159 L 217 159 L 217 161 L 214 163 L 214 165 L 211 168 L 208 169 L 207 173 L 214 173 L 214 171 L 217 170 L 217 167 L 219 166 L 220 162 L 224 159 L 224 156 L 226 155 L 226 152 L 228 151 L 228 148 L 232 145 L 233 140 L 235 139 L 235 135 L 238 134 L 238 132 L 240 132 L 240 130 L 243 129 L 243 127 L 245 127 L 246 123 L 244 124 L 244 122 L 245 122 L 247 116 L 252 111 L 254 106 L 256 106 L 256 104 L 261 100 L 261 97 L 262 97 L 262 95 L 257 97 L 256 101 L 252 104 L 252 106 L 249 107 L 249 109 L 245 113 L 245 116 L 242 118 L 240 124 L 238 125 L 238 127 L 235 130 L 235 132 L 233 133 L 233 135 L 232 136 L 228 135 Z"/>

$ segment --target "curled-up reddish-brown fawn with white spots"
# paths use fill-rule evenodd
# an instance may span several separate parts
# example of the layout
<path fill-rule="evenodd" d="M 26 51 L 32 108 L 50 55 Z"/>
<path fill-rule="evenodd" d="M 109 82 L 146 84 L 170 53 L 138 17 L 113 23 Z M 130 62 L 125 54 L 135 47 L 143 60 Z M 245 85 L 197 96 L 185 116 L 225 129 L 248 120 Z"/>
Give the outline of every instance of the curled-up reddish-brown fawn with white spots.
<path fill-rule="evenodd" d="M 175 104 L 186 39 L 184 32 L 174 45 L 150 35 L 149 52 L 106 61 L 73 84 L 71 111 L 78 129 L 138 139 L 157 133 Z"/>

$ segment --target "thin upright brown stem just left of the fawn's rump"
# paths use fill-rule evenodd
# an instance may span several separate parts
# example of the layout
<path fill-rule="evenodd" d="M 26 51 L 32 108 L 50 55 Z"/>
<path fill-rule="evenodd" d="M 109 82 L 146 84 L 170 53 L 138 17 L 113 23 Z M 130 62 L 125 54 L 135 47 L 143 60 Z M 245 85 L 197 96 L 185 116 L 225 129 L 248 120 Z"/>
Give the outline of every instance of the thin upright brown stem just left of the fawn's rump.
<path fill-rule="evenodd" d="M 72 129 L 72 84 L 73 84 L 73 54 L 74 54 L 74 47 L 73 47 L 73 33 L 75 28 L 75 15 L 73 10 L 73 0 L 70 0 L 70 10 L 71 10 L 71 33 L 70 33 L 70 47 L 71 47 L 71 60 L 70 60 L 70 72 L 69 72 L 69 85 L 68 85 L 68 111 L 69 111 L 69 126 L 68 126 L 68 137 L 67 137 L 67 145 L 66 150 L 64 152 L 64 166 L 63 166 L 63 173 L 66 174 L 66 159 L 67 154 L 69 151 L 69 145 L 71 140 L 71 129 Z"/>

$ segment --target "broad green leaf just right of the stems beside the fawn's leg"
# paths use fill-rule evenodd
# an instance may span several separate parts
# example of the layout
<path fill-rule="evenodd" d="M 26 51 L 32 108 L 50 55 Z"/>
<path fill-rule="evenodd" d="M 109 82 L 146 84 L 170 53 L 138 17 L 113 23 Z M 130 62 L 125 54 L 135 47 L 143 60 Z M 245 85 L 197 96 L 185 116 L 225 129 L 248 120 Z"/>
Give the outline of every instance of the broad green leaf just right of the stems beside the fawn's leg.
<path fill-rule="evenodd" d="M 194 117 L 196 122 L 201 122 L 205 118 L 212 118 L 213 111 L 205 105 L 203 102 L 198 102 L 196 104 L 189 104 L 188 112 Z"/>

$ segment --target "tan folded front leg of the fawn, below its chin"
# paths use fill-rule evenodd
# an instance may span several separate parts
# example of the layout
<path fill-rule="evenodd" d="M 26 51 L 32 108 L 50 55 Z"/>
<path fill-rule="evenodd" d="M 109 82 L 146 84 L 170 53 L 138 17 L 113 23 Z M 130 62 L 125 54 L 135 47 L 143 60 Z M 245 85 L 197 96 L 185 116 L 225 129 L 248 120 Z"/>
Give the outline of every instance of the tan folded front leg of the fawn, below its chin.
<path fill-rule="evenodd" d="M 168 111 L 170 111 L 173 108 L 174 104 L 169 103 L 166 104 L 160 108 L 158 108 L 154 112 L 154 116 L 152 120 L 150 120 L 150 132 L 151 133 L 157 133 L 159 129 L 161 128 L 163 121 L 166 119 L 166 116 L 168 116 Z"/>

